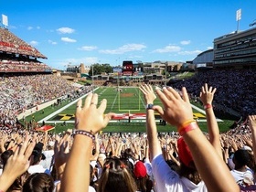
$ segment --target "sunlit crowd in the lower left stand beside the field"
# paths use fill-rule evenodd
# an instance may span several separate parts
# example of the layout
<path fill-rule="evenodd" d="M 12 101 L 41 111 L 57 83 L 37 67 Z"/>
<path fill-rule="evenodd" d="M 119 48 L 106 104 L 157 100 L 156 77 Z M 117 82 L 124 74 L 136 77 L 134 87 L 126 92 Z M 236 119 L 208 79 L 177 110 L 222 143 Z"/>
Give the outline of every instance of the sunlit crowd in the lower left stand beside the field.
<path fill-rule="evenodd" d="M 4 127 L 15 126 L 18 113 L 59 97 L 75 95 L 79 90 L 69 80 L 54 75 L 5 76 L 1 77 L 0 85 L 0 125 Z"/>

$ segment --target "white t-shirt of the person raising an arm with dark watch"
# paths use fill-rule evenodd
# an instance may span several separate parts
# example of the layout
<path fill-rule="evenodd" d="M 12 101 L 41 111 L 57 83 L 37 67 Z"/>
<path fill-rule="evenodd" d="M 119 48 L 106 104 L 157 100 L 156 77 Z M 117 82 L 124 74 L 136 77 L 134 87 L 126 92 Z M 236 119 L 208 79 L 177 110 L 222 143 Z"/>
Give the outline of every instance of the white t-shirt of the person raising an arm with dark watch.
<path fill-rule="evenodd" d="M 208 192 L 203 181 L 197 185 L 186 177 L 180 177 L 165 162 L 162 154 L 155 155 L 152 161 L 155 189 L 158 192 Z"/>

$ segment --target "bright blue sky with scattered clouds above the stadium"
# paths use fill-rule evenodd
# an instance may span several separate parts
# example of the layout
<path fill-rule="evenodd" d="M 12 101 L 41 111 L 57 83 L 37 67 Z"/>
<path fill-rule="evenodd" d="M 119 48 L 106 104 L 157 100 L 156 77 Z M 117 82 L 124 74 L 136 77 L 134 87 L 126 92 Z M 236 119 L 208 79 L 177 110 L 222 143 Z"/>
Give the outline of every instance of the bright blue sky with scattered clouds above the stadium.
<path fill-rule="evenodd" d="M 256 0 L 0 0 L 9 30 L 55 69 L 126 59 L 186 62 L 237 30 L 240 8 L 240 30 L 249 29 L 255 7 Z"/>

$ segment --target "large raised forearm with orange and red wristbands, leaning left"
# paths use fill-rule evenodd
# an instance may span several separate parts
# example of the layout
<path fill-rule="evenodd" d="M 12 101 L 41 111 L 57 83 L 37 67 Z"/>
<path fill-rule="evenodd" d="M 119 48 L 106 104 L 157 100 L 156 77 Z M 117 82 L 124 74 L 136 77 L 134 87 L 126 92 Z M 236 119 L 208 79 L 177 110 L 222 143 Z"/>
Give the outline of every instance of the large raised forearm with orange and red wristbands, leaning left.
<path fill-rule="evenodd" d="M 186 88 L 182 89 L 183 99 L 172 88 L 164 88 L 163 91 L 157 89 L 156 93 L 164 105 L 164 110 L 157 106 L 157 111 L 167 123 L 175 125 L 183 135 L 208 191 L 240 191 L 227 165 L 193 121 Z"/>

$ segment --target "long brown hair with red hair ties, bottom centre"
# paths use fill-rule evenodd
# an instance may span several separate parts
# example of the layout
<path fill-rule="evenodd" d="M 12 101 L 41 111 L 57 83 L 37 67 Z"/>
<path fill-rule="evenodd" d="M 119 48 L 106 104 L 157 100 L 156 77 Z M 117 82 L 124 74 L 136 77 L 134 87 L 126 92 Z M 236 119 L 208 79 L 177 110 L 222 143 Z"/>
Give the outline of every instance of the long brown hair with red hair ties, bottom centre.
<path fill-rule="evenodd" d="M 99 192 L 134 192 L 136 183 L 127 165 L 118 158 L 107 159 L 99 179 Z"/>

